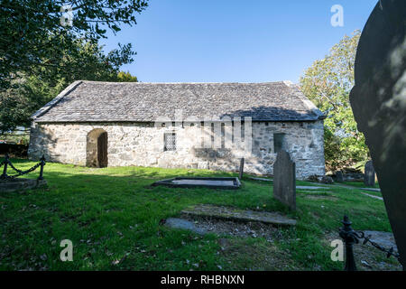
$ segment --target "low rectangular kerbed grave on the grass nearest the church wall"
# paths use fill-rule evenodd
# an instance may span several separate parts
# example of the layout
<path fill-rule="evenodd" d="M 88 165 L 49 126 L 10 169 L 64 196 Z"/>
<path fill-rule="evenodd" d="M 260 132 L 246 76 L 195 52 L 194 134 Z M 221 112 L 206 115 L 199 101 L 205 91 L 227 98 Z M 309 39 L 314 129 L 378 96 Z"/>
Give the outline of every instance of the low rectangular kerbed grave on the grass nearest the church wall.
<path fill-rule="evenodd" d="M 206 187 L 211 189 L 236 190 L 241 186 L 241 182 L 238 178 L 177 177 L 152 183 L 152 186 L 159 185 L 171 188 Z"/>

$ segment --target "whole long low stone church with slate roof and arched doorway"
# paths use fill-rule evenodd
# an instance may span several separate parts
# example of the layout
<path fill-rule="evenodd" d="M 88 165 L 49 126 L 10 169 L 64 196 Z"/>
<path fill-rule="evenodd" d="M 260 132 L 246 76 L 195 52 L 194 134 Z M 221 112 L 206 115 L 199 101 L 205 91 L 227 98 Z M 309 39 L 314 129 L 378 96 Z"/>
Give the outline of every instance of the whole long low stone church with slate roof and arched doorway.
<path fill-rule="evenodd" d="M 297 178 L 323 175 L 324 115 L 289 81 L 76 81 L 32 115 L 29 156 L 90 167 L 272 174 L 279 150 Z"/>

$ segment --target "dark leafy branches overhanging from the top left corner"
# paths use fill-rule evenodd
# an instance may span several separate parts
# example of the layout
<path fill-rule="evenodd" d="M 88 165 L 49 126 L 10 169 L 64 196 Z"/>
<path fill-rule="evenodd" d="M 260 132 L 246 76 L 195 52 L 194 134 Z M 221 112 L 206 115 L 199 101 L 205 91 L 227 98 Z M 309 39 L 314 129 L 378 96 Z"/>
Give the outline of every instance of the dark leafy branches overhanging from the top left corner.
<path fill-rule="evenodd" d="M 2 0 L 0 89 L 19 73 L 58 65 L 78 39 L 96 44 L 107 29 L 117 33 L 119 25 L 135 24 L 134 14 L 146 6 L 146 0 Z"/>

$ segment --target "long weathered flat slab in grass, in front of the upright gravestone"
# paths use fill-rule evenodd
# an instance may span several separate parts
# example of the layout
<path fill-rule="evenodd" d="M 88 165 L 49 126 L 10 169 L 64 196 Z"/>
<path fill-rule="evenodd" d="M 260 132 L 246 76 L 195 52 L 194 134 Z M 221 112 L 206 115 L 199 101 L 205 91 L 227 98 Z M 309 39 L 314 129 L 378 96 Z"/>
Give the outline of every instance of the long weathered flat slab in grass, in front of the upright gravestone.
<path fill-rule="evenodd" d="M 276 226 L 296 225 L 295 219 L 287 218 L 277 212 L 241 210 L 231 207 L 220 207 L 206 204 L 190 207 L 188 209 L 182 210 L 181 213 L 191 216 L 230 219 L 243 222 L 257 221 Z"/>

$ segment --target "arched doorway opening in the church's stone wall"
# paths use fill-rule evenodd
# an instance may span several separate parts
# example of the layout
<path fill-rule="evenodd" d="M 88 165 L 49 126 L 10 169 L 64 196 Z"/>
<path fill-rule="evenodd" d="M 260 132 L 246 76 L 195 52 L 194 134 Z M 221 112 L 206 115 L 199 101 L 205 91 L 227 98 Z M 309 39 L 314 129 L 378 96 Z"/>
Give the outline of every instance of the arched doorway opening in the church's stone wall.
<path fill-rule="evenodd" d="M 101 128 L 95 128 L 88 133 L 86 165 L 94 168 L 104 168 L 108 164 L 107 157 L 107 132 Z"/>

